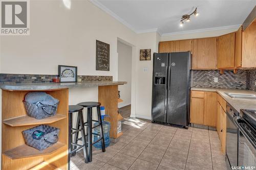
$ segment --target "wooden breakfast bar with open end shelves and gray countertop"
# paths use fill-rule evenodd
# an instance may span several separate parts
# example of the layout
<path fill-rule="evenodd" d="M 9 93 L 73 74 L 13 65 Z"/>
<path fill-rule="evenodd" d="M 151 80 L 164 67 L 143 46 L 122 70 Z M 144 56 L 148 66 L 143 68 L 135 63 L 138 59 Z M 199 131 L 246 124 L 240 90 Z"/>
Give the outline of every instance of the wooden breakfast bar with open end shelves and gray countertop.
<path fill-rule="evenodd" d="M 110 136 L 118 138 L 117 122 L 120 116 L 117 112 L 118 85 L 126 82 L 97 81 L 80 83 L 31 83 L 4 84 L 2 89 L 2 169 L 30 169 L 34 166 L 40 169 L 68 169 L 68 105 L 69 88 L 97 87 L 98 102 L 105 106 L 106 114 L 111 122 Z M 58 99 L 57 114 L 45 119 L 35 119 L 27 116 L 24 108 L 24 96 L 30 91 L 46 91 Z M 32 127 L 48 124 L 60 129 L 59 140 L 52 147 L 38 151 L 25 144 L 22 131 Z"/>

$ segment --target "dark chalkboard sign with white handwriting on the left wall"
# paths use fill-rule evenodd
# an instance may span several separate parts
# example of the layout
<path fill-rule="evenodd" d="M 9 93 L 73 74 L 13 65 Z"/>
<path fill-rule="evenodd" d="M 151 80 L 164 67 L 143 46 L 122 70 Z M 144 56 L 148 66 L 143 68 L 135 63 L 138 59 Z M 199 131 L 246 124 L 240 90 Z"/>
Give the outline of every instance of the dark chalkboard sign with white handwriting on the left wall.
<path fill-rule="evenodd" d="M 110 70 L 110 44 L 96 40 L 96 70 Z"/>

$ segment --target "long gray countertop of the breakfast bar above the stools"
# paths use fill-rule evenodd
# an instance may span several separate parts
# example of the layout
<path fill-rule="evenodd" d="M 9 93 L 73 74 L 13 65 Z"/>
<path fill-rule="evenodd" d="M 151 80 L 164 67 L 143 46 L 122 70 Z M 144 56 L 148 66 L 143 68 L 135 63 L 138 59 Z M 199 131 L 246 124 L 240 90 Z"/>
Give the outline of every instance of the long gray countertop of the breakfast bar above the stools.
<path fill-rule="evenodd" d="M 95 82 L 77 82 L 77 83 L 30 83 L 30 84 L 3 84 L 1 89 L 5 90 L 49 90 L 74 87 L 95 87 L 95 86 L 110 86 L 122 85 L 127 82 L 122 81 L 95 81 Z"/>

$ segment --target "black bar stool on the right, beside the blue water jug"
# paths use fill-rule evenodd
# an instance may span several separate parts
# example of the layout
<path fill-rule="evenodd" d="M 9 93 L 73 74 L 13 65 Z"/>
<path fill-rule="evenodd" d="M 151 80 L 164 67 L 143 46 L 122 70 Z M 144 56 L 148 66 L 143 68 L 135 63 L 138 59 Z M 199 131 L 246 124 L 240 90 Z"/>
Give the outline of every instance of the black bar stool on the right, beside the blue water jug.
<path fill-rule="evenodd" d="M 101 120 L 101 114 L 100 114 L 101 103 L 99 103 L 99 102 L 82 102 L 82 103 L 78 103 L 78 105 L 87 108 L 87 122 L 84 123 L 84 126 L 87 126 L 88 147 L 89 147 L 88 157 L 89 157 L 89 162 L 91 162 L 92 161 L 92 146 L 94 143 L 97 143 L 98 141 L 101 140 L 101 149 L 102 149 L 102 152 L 105 152 L 105 141 L 104 141 L 103 126 L 102 126 L 102 120 Z M 97 108 L 98 120 L 92 119 L 92 108 L 94 108 L 94 107 Z M 99 124 L 95 127 L 92 127 L 92 122 L 98 122 Z M 92 133 L 92 130 L 99 126 L 101 127 L 100 135 L 98 135 L 96 133 Z M 100 138 L 98 140 L 92 142 L 92 135 L 100 136 Z"/>

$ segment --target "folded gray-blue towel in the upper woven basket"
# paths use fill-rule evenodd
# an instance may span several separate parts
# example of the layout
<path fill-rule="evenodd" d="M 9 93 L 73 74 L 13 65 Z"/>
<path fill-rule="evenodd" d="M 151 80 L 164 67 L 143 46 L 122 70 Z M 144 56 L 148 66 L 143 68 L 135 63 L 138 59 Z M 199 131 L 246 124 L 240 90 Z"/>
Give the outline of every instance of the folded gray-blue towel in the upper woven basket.
<path fill-rule="evenodd" d="M 53 98 L 50 94 L 47 94 L 44 91 L 35 91 L 35 92 L 29 92 L 25 96 L 25 101 L 29 103 L 34 103 L 37 106 L 41 105 L 56 105 L 59 100 Z"/>

